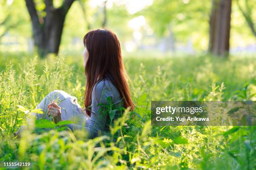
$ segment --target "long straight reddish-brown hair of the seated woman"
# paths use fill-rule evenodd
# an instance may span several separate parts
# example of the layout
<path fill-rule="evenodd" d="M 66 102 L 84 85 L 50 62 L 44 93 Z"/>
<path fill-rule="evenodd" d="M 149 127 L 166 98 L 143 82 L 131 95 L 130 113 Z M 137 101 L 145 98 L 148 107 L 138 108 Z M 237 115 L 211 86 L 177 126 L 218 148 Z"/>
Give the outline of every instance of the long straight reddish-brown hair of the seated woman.
<path fill-rule="evenodd" d="M 92 89 L 99 78 L 107 78 L 120 92 L 123 97 L 124 107 L 134 109 L 130 90 L 126 78 L 128 78 L 123 64 L 120 42 L 118 37 L 110 30 L 91 30 L 84 36 L 84 46 L 89 52 L 85 66 L 87 78 L 84 92 L 84 106 L 91 105 Z M 90 110 L 86 109 L 87 115 L 91 116 Z"/>

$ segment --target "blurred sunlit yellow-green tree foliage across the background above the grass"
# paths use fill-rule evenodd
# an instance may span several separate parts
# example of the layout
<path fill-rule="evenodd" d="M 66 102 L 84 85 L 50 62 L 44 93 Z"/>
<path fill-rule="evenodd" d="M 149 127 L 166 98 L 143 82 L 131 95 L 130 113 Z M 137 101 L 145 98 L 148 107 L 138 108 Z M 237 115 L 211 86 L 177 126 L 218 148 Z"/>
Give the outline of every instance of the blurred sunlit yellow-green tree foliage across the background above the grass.
<path fill-rule="evenodd" d="M 54 0 L 54 7 L 59 7 L 63 0 Z M 241 8 L 247 11 L 255 25 L 256 11 L 253 10 L 255 0 L 238 1 Z M 35 0 L 38 15 L 43 17 L 44 2 Z M 192 42 L 195 50 L 207 50 L 208 30 L 211 10 L 211 0 L 204 2 L 198 0 L 154 0 L 152 5 L 145 5 L 141 10 L 131 13 L 129 5 L 141 5 L 143 2 L 128 0 L 107 1 L 107 25 L 119 37 L 122 47 L 126 42 L 135 41 L 138 31 L 142 40 L 138 44 L 153 43 L 158 45 L 162 38 L 174 36 L 177 44 Z M 103 22 L 103 4 L 101 0 L 76 0 L 69 10 L 64 32 L 61 39 L 61 52 L 82 50 L 82 37 L 90 29 L 100 28 Z M 250 13 L 249 13 L 250 12 Z M 31 22 L 22 0 L 2 0 L 0 2 L 0 23 L 8 18 L 8 22 L 0 25 L 0 36 L 5 33 L 0 41 L 1 51 L 31 51 L 30 45 L 32 31 Z M 146 24 L 138 30 L 129 26 L 129 22 L 143 16 Z M 137 23 L 141 24 L 141 23 Z M 6 31 L 7 30 L 7 31 Z M 136 32 L 137 31 L 137 32 Z M 134 40 L 135 39 L 135 40 Z M 245 47 L 254 44 L 255 37 L 251 32 L 246 18 L 238 7 L 237 1 L 232 3 L 231 13 L 231 47 Z"/>

